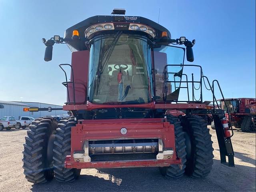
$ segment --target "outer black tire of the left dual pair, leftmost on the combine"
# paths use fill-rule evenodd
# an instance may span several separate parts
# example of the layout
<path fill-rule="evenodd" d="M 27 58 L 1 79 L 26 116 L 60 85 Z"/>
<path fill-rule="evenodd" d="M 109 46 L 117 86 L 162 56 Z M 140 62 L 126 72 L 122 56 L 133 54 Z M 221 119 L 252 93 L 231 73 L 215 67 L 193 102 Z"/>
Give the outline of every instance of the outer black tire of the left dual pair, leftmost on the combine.
<path fill-rule="evenodd" d="M 42 184 L 54 177 L 53 160 L 48 158 L 48 141 L 56 132 L 54 118 L 35 119 L 29 126 L 23 151 L 23 168 L 26 179 L 34 184 Z"/>

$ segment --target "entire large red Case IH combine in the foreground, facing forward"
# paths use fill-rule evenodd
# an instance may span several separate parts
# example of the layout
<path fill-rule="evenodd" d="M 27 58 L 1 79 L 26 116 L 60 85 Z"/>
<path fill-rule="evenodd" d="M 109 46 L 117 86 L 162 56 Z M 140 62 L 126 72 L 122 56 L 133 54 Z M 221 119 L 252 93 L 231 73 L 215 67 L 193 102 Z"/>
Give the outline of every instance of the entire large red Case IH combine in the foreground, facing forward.
<path fill-rule="evenodd" d="M 127 167 L 159 167 L 170 178 L 205 177 L 213 164 L 212 140 L 196 114 L 208 113 L 216 125 L 221 163 L 234 166 L 233 130 L 230 135 L 224 110 L 206 109 L 202 90 L 199 102 L 178 100 L 182 83 L 202 87 L 206 78 L 201 66 L 184 65 L 185 50 L 187 60 L 194 61 L 195 40 L 172 39 L 163 26 L 124 16 L 122 9 L 112 14 L 90 17 L 68 28 L 64 38 L 43 38 L 45 61 L 52 60 L 54 44 L 65 43 L 72 51 L 71 65 L 60 68 L 67 88 L 63 109 L 73 117 L 59 124 L 38 118 L 30 125 L 23 152 L 26 179 L 40 184 L 55 176 L 72 182 L 82 168 Z M 185 66 L 200 68 L 200 81 L 182 80 Z M 69 81 L 65 67 L 71 69 Z M 167 110 L 186 115 L 178 119 Z"/>

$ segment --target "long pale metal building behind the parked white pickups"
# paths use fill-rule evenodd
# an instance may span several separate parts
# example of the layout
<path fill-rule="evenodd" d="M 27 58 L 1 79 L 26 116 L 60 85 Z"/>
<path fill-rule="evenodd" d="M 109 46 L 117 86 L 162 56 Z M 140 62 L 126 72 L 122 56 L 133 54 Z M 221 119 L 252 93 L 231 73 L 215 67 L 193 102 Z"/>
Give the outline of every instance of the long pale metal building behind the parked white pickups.
<path fill-rule="evenodd" d="M 39 103 L 39 102 L 11 102 L 11 101 L 1 101 L 0 104 L 4 108 L 0 108 L 0 118 L 3 116 L 14 116 L 16 119 L 19 116 L 30 116 L 34 118 L 49 116 L 49 115 L 66 115 L 67 111 L 64 110 L 54 110 L 52 112 L 48 111 L 38 111 L 38 112 L 24 112 L 23 108 L 28 107 L 38 107 L 38 108 L 62 108 L 60 105 Z"/>

